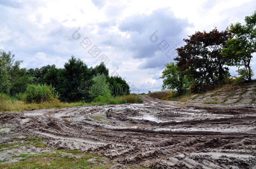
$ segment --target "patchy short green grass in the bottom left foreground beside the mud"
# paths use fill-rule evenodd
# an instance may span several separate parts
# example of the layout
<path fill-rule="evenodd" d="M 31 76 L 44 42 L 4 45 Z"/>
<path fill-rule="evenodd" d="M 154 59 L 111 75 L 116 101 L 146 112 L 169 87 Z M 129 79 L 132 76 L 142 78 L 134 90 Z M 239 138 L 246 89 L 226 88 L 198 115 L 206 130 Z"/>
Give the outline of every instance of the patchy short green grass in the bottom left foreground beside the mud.
<path fill-rule="evenodd" d="M 37 137 L 26 136 L 25 139 L 16 138 L 13 143 L 0 144 L 0 147 L 4 147 L 6 151 L 18 149 L 21 146 L 37 146 L 42 144 L 42 141 L 44 140 Z M 44 146 L 40 146 L 40 148 L 43 149 Z M 18 162 L 3 164 L 3 162 L 9 161 L 10 159 L 2 159 L 0 160 L 0 169 L 105 169 L 115 164 L 106 157 L 98 154 L 86 154 L 79 150 L 49 149 L 49 151 L 42 154 L 30 154 L 29 151 L 18 154 L 18 151 L 12 150 L 8 154 L 13 155 L 11 159 L 16 159 Z M 130 168 L 138 168 L 137 165 L 130 165 Z"/>

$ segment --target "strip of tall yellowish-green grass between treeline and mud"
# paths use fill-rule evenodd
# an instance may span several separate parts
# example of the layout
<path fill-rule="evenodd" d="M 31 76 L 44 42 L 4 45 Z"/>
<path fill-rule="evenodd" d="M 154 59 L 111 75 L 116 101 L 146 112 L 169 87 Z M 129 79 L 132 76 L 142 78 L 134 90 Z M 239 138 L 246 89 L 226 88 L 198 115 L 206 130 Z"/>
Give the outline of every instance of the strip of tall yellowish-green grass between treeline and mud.
<path fill-rule="evenodd" d="M 1 98 L 0 96 L 0 111 L 24 111 L 31 109 L 41 109 L 41 108 L 63 108 L 63 107 L 74 107 L 74 106 L 94 106 L 94 105 L 106 105 L 106 104 L 123 104 L 123 103 L 142 103 L 143 100 L 136 94 L 130 94 L 127 96 L 111 97 L 104 102 L 76 102 L 76 103 L 64 103 L 58 100 L 42 103 L 25 103 L 24 101 L 15 100 L 6 96 Z"/>

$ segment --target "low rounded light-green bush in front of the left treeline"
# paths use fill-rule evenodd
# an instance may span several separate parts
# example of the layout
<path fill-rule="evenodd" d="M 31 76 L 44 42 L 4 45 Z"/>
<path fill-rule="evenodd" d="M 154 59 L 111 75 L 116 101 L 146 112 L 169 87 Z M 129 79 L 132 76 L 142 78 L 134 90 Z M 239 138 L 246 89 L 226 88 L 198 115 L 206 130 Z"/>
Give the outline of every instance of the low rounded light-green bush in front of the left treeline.
<path fill-rule="evenodd" d="M 41 103 L 54 101 L 58 95 L 52 86 L 47 85 L 29 85 L 26 89 L 26 103 Z"/>

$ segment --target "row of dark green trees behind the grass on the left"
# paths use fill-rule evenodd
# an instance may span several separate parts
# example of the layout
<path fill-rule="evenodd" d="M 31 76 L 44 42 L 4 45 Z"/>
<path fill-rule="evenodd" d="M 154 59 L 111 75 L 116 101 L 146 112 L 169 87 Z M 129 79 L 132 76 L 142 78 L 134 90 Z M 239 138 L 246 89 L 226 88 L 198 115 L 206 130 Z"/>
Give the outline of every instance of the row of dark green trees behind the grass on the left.
<path fill-rule="evenodd" d="M 51 86 L 60 101 L 93 101 L 98 96 L 123 96 L 130 94 L 126 81 L 109 76 L 104 63 L 88 67 L 79 58 L 71 56 L 64 68 L 47 65 L 42 68 L 20 68 L 22 61 L 15 61 L 14 54 L 0 50 L 0 93 L 15 96 L 25 93 L 28 86 Z M 55 93 L 53 93 L 55 94 Z"/>

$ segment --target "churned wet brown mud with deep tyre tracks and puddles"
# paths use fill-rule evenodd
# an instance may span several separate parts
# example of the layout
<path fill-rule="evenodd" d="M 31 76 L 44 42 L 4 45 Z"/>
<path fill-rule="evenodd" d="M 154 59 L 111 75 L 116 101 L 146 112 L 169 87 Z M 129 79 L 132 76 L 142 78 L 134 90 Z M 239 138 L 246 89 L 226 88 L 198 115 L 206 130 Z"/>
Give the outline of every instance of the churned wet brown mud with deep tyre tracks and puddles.
<path fill-rule="evenodd" d="M 142 104 L 5 112 L 0 124 L 7 131 L 0 142 L 13 139 L 8 134 L 37 136 L 47 148 L 100 154 L 118 168 L 256 168 L 254 104 L 142 97 Z"/>

